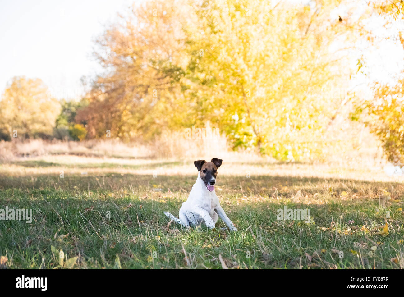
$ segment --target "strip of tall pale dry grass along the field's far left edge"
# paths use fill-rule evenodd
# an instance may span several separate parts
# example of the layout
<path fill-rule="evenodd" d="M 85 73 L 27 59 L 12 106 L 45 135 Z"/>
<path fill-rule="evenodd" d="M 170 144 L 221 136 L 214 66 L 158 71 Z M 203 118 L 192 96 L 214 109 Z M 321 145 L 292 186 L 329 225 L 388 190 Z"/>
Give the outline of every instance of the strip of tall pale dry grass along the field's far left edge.
<path fill-rule="evenodd" d="M 164 133 L 160 137 L 145 142 L 124 143 L 119 139 L 106 138 L 77 141 L 46 141 L 32 139 L 21 141 L 0 141 L 0 160 L 16 160 L 23 156 L 43 156 L 71 154 L 78 156 L 120 157 L 120 158 L 175 158 L 191 157 L 214 148 L 218 152 L 227 152 L 225 137 L 215 139 L 186 139 L 184 133 Z"/>

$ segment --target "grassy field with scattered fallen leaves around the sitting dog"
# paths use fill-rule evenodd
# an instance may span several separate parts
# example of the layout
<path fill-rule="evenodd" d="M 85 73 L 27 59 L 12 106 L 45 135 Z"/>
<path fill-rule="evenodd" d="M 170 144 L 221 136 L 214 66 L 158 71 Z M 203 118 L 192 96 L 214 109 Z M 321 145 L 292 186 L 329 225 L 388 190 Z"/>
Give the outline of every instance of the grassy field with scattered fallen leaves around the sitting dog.
<path fill-rule="evenodd" d="M 238 232 L 221 231 L 220 219 L 215 230 L 168 225 L 163 211 L 178 215 L 196 180 L 193 160 L 4 162 L 0 209 L 32 209 L 33 221 L 0 221 L 2 267 L 404 268 L 402 180 L 377 168 L 240 160 L 223 161 L 216 187 Z M 278 220 L 284 206 L 310 209 L 311 221 Z"/>

